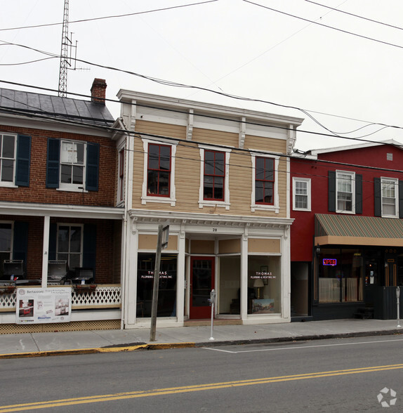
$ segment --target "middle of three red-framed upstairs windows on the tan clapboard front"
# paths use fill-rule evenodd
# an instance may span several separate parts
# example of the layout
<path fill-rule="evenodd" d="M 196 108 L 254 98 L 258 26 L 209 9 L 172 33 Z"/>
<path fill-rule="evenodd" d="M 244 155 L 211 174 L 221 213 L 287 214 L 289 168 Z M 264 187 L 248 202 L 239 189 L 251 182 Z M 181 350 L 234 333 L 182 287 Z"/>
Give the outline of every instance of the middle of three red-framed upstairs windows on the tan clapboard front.
<path fill-rule="evenodd" d="M 203 199 L 223 201 L 225 194 L 225 152 L 204 151 Z"/>

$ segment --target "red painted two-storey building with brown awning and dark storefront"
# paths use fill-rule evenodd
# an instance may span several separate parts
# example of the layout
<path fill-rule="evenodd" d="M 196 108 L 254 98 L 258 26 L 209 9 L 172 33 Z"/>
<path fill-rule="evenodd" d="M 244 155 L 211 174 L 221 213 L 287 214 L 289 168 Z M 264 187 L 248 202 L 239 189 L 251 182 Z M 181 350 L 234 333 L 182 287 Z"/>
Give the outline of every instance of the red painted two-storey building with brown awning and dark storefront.
<path fill-rule="evenodd" d="M 402 163 L 402 145 L 393 140 L 291 158 L 294 319 L 397 316 Z"/>

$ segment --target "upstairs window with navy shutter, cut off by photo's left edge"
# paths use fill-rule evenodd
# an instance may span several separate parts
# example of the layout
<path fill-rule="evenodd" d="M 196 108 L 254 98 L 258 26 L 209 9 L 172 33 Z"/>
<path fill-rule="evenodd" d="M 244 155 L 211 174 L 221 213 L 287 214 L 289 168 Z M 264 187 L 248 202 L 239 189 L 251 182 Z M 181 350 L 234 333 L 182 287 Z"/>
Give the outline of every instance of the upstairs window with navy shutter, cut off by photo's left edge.
<path fill-rule="evenodd" d="M 28 186 L 31 137 L 0 133 L 0 186 Z"/>

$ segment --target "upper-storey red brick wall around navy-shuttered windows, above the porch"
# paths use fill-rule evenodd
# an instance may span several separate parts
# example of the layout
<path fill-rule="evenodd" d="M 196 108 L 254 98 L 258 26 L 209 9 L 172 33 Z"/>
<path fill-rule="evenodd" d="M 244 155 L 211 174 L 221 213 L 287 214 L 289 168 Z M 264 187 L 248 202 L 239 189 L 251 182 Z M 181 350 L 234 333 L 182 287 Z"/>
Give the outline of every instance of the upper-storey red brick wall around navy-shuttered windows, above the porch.
<path fill-rule="evenodd" d="M 114 206 L 117 185 L 117 150 L 114 141 L 110 138 L 3 125 L 0 125 L 0 131 L 21 133 L 32 138 L 29 187 L 0 187 L 1 201 Z M 48 138 L 84 140 L 100 144 L 99 189 L 97 192 L 66 192 L 56 190 L 55 188 L 46 188 L 46 150 Z"/>

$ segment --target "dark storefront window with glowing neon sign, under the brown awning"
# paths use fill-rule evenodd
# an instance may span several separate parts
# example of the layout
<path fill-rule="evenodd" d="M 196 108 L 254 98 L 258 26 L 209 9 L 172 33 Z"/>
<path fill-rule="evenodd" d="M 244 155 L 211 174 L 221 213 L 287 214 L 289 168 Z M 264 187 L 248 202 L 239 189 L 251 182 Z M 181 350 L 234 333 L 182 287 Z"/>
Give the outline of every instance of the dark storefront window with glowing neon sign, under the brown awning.
<path fill-rule="evenodd" d="M 321 249 L 317 254 L 319 303 L 363 301 L 364 261 L 360 249 Z"/>

